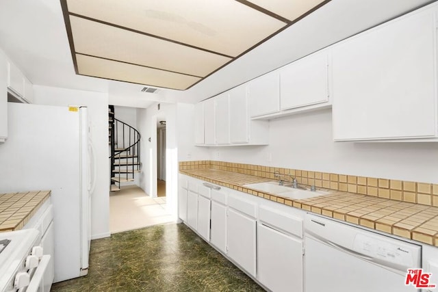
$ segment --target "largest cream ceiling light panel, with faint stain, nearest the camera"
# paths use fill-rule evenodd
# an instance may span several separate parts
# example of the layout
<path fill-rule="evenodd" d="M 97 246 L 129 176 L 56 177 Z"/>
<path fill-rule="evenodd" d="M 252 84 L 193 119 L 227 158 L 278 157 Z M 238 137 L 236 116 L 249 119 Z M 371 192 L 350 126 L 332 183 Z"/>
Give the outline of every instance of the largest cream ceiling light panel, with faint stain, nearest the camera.
<path fill-rule="evenodd" d="M 67 0 L 67 5 L 70 13 L 232 57 L 287 25 L 234 0 Z"/>

